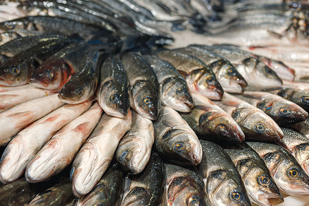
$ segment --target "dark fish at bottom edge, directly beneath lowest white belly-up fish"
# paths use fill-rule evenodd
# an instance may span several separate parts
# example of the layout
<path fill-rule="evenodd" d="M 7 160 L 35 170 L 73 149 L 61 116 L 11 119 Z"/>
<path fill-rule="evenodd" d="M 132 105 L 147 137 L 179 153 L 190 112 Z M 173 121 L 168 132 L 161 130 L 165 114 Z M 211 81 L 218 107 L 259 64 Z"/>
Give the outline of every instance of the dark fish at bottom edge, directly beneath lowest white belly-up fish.
<path fill-rule="evenodd" d="M 106 170 L 93 190 L 78 200 L 78 205 L 119 205 L 118 197 L 123 192 L 123 179 L 124 172 L 117 163 L 114 163 Z"/>

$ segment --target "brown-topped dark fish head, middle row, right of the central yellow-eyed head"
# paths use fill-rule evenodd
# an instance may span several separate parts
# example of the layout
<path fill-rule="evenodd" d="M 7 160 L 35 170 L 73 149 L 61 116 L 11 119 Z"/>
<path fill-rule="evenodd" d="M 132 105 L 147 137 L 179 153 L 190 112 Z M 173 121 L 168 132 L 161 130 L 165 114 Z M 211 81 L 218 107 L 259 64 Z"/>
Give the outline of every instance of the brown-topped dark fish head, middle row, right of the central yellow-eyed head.
<path fill-rule="evenodd" d="M 203 113 L 198 119 L 198 124 L 225 141 L 244 141 L 244 133 L 240 126 L 228 115 L 221 112 Z"/>

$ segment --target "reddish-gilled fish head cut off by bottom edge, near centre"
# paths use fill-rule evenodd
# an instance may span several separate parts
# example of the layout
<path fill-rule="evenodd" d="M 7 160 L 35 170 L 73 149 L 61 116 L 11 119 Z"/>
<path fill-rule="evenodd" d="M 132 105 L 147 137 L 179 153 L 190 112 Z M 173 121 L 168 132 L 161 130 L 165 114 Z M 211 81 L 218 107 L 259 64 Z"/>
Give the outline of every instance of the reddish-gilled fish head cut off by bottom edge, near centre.
<path fill-rule="evenodd" d="M 189 176 L 176 176 L 168 183 L 168 205 L 205 205 L 205 194 Z"/>

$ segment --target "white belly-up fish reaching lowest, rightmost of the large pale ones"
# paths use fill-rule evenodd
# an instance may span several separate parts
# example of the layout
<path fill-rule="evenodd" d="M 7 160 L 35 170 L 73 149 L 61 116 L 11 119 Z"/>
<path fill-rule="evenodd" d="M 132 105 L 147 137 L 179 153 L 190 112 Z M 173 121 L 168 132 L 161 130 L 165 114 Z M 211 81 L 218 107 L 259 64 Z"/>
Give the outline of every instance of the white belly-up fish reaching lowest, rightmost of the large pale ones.
<path fill-rule="evenodd" d="M 88 194 L 100 181 L 113 159 L 120 139 L 130 129 L 132 115 L 124 118 L 104 113 L 95 130 L 76 155 L 71 168 L 74 196 Z"/>

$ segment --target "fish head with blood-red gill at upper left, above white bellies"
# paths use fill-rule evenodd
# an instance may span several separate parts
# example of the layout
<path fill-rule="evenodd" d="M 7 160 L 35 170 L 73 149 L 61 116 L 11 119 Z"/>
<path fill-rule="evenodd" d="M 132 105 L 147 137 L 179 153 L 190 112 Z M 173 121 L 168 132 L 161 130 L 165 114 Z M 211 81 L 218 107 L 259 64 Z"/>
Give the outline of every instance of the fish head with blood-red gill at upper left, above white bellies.
<path fill-rule="evenodd" d="M 30 84 L 43 89 L 58 90 L 71 76 L 73 69 L 65 61 L 46 60 L 34 70 Z"/>

